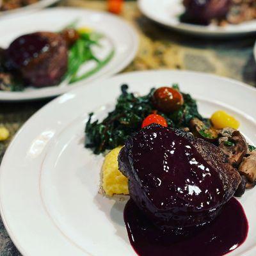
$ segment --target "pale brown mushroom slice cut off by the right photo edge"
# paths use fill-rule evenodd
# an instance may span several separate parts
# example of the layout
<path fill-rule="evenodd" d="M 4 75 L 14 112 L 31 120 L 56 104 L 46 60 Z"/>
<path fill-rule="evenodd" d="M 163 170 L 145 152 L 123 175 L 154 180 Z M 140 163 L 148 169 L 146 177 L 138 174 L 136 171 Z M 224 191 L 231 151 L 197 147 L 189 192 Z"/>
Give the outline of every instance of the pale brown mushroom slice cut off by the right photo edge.
<path fill-rule="evenodd" d="M 256 181 L 256 151 L 255 150 L 248 157 L 244 157 L 243 162 L 239 165 L 238 171 L 239 173 L 244 175 L 250 183 L 255 184 L 255 181 Z"/>

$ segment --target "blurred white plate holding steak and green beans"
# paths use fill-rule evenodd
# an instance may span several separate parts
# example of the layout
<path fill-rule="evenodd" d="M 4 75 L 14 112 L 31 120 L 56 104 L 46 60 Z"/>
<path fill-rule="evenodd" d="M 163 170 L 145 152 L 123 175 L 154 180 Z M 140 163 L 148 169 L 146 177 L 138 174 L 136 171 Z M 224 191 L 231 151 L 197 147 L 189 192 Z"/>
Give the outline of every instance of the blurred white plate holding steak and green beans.
<path fill-rule="evenodd" d="M 111 61 L 100 69 L 99 72 L 77 83 L 70 85 L 61 84 L 60 86 L 39 89 L 28 88 L 24 92 L 0 91 L 0 100 L 31 100 L 60 95 L 77 86 L 90 83 L 95 79 L 102 79 L 116 74 L 133 60 L 138 48 L 138 37 L 134 29 L 115 15 L 81 8 L 51 8 L 17 17 L 16 19 L 2 20 L 0 26 L 0 47 L 8 47 L 10 42 L 25 33 L 60 31 L 61 28 L 74 22 L 74 20 L 78 20 L 78 28 L 85 26 L 99 31 L 106 36 L 106 39 L 101 42 L 102 48 L 98 47 L 95 49 L 95 54 L 104 58 L 112 49 L 115 49 L 115 54 Z"/>

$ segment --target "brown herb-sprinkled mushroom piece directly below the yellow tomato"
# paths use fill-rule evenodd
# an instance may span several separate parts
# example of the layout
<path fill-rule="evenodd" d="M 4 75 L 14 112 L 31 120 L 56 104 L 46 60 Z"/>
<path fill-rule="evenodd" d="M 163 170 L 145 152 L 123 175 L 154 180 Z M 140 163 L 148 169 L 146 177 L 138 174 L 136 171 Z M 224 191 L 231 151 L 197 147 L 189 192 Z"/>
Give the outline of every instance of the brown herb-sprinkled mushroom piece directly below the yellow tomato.
<path fill-rule="evenodd" d="M 246 155 L 248 145 L 239 131 L 234 131 L 228 141 L 222 141 L 219 148 L 228 157 L 233 166 L 238 166 Z"/>

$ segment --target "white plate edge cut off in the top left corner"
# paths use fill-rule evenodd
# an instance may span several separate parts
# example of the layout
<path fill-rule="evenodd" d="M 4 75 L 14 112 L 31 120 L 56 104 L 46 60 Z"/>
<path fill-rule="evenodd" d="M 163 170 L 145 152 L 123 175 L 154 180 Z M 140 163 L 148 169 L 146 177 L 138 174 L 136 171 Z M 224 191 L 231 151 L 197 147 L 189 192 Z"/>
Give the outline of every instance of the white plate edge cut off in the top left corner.
<path fill-rule="evenodd" d="M 10 10 L 10 11 L 1 11 L 0 12 L 0 19 L 5 19 L 5 18 L 9 19 L 11 17 L 16 18 L 17 15 L 25 15 L 25 14 L 28 14 L 30 12 L 35 12 L 36 10 L 43 9 L 47 6 L 50 6 L 54 3 L 57 3 L 58 1 L 60 1 L 60 0 L 40 0 L 37 3 L 29 4 L 27 6 L 20 7 L 20 8 L 17 8 L 17 9 L 13 9 L 13 10 Z"/>

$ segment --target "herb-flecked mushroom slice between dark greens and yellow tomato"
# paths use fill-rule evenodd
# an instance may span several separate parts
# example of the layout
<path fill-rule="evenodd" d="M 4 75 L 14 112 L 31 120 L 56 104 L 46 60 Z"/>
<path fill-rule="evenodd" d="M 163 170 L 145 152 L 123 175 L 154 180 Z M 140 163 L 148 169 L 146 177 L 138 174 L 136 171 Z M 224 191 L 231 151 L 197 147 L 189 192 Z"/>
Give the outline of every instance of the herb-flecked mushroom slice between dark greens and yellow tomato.
<path fill-rule="evenodd" d="M 218 138 L 218 132 L 212 127 L 208 128 L 204 122 L 198 118 L 192 118 L 189 122 L 189 127 L 194 136 L 214 142 Z"/>

